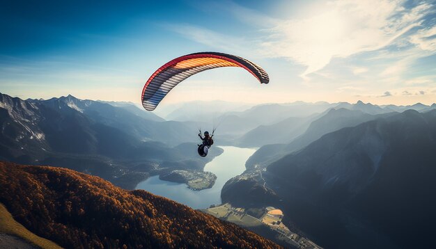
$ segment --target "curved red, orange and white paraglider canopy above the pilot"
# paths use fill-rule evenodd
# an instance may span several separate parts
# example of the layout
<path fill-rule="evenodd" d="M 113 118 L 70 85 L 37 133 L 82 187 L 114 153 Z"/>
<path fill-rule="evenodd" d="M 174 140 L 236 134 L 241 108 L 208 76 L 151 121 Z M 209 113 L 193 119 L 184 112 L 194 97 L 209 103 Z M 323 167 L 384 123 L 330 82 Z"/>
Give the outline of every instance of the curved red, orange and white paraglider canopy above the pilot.
<path fill-rule="evenodd" d="M 253 74 L 260 83 L 270 82 L 267 72 L 262 67 L 242 57 L 217 52 L 188 54 L 169 61 L 151 75 L 142 90 L 143 108 L 153 111 L 178 83 L 198 72 L 217 67 L 242 67 Z"/>

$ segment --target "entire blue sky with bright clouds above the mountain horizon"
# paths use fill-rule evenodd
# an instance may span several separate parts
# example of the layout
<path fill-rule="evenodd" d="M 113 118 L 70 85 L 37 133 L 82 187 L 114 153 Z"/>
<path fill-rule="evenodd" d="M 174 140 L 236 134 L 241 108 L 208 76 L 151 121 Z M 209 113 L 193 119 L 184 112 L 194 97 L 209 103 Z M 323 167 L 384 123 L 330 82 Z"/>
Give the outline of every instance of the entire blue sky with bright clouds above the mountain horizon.
<path fill-rule="evenodd" d="M 2 1 L 0 92 L 140 102 L 172 58 L 221 51 L 240 68 L 180 83 L 162 104 L 436 102 L 434 1 Z M 211 93 L 203 99 L 201 93 Z"/>

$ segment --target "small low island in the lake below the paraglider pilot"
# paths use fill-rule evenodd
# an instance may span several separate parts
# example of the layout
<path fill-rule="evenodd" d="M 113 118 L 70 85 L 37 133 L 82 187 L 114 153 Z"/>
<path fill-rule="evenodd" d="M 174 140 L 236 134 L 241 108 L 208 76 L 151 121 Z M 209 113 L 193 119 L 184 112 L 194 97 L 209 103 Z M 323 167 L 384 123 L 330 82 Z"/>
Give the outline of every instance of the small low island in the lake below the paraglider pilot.
<path fill-rule="evenodd" d="M 200 191 L 205 188 L 212 188 L 217 176 L 212 172 L 200 170 L 173 170 L 167 174 L 159 175 L 159 179 L 184 183 L 192 190 Z"/>

